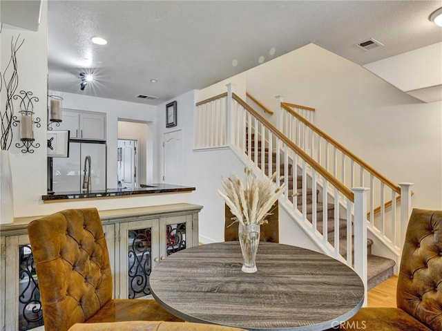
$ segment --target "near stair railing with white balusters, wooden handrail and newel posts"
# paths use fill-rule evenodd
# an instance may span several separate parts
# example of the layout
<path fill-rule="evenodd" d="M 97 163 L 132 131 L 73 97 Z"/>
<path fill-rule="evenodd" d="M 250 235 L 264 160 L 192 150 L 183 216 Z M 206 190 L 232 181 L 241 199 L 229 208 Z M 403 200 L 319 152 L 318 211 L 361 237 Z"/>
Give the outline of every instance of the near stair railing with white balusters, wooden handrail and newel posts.
<path fill-rule="evenodd" d="M 256 173 L 269 176 L 276 172 L 276 185 L 285 183 L 280 206 L 298 220 L 298 225 L 323 252 L 350 266 L 355 261 L 354 269 L 367 285 L 367 245 L 354 245 L 352 240 L 344 242 L 340 238 L 340 231 L 346 231 L 347 238 L 354 236 L 355 243 L 367 243 L 367 190 L 345 187 L 232 93 L 231 86 L 228 90 L 227 95 L 223 93 L 196 104 L 195 148 L 228 145 Z M 221 123 L 216 124 L 220 117 Z M 213 127 L 217 125 L 215 133 Z M 344 209 L 340 205 L 342 200 Z M 340 247 L 347 248 L 346 256 L 340 255 Z"/>

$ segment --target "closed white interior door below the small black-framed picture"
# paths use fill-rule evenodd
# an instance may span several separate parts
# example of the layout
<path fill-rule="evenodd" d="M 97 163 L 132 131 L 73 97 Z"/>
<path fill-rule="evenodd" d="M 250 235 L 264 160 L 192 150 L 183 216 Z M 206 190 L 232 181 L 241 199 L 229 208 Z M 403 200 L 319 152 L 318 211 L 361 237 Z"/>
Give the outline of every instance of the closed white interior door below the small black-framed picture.
<path fill-rule="evenodd" d="M 164 175 L 167 184 L 184 184 L 184 144 L 182 130 L 164 133 Z"/>

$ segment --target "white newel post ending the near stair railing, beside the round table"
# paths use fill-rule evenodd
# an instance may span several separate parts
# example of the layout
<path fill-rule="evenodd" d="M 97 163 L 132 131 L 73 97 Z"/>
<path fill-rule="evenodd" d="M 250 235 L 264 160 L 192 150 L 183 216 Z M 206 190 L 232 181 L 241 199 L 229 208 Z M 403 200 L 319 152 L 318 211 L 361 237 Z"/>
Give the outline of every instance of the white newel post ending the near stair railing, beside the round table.
<path fill-rule="evenodd" d="M 367 192 L 366 187 L 352 188 L 354 193 L 354 270 L 365 287 L 367 305 Z"/>

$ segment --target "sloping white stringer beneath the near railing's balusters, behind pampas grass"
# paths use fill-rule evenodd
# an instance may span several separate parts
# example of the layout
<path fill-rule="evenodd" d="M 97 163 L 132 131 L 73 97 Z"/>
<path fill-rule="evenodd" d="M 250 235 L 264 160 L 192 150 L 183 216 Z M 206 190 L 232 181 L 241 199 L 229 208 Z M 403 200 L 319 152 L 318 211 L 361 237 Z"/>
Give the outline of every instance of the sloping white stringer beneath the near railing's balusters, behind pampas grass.
<path fill-rule="evenodd" d="M 233 153 L 235 153 L 236 156 L 244 163 L 244 167 L 249 167 L 249 169 L 251 169 L 256 176 L 262 174 L 262 171 L 256 167 L 256 165 L 253 164 L 253 162 L 251 162 L 251 160 L 247 158 L 247 156 L 240 149 L 238 149 L 237 146 L 231 145 L 230 147 Z M 317 229 L 313 229 L 313 225 L 310 223 L 310 221 L 307 220 L 307 218 L 303 218 L 301 212 L 298 209 L 293 208 L 293 205 L 288 202 L 287 199 L 279 198 L 278 202 L 280 207 L 285 210 L 289 218 L 291 218 L 291 220 L 294 221 L 296 225 L 300 227 L 300 229 L 302 229 L 304 234 L 314 243 L 314 245 L 316 245 L 319 252 L 327 254 L 328 256 L 333 256 L 339 261 L 346 263 L 345 258 L 339 254 L 335 254 L 334 247 L 328 241 L 323 240 L 323 235 L 320 234 Z"/>

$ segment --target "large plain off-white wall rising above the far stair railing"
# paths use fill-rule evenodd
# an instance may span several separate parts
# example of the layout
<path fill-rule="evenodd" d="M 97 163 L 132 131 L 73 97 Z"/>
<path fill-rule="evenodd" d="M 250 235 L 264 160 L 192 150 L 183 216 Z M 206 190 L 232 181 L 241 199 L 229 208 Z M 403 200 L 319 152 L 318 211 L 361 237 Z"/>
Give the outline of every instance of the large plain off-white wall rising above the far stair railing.
<path fill-rule="evenodd" d="M 407 70 L 407 68 L 403 68 Z M 442 209 L 442 103 L 423 103 L 365 68 L 309 44 L 247 72 L 247 91 L 316 108 L 316 125 L 393 182 L 413 207 Z"/>

